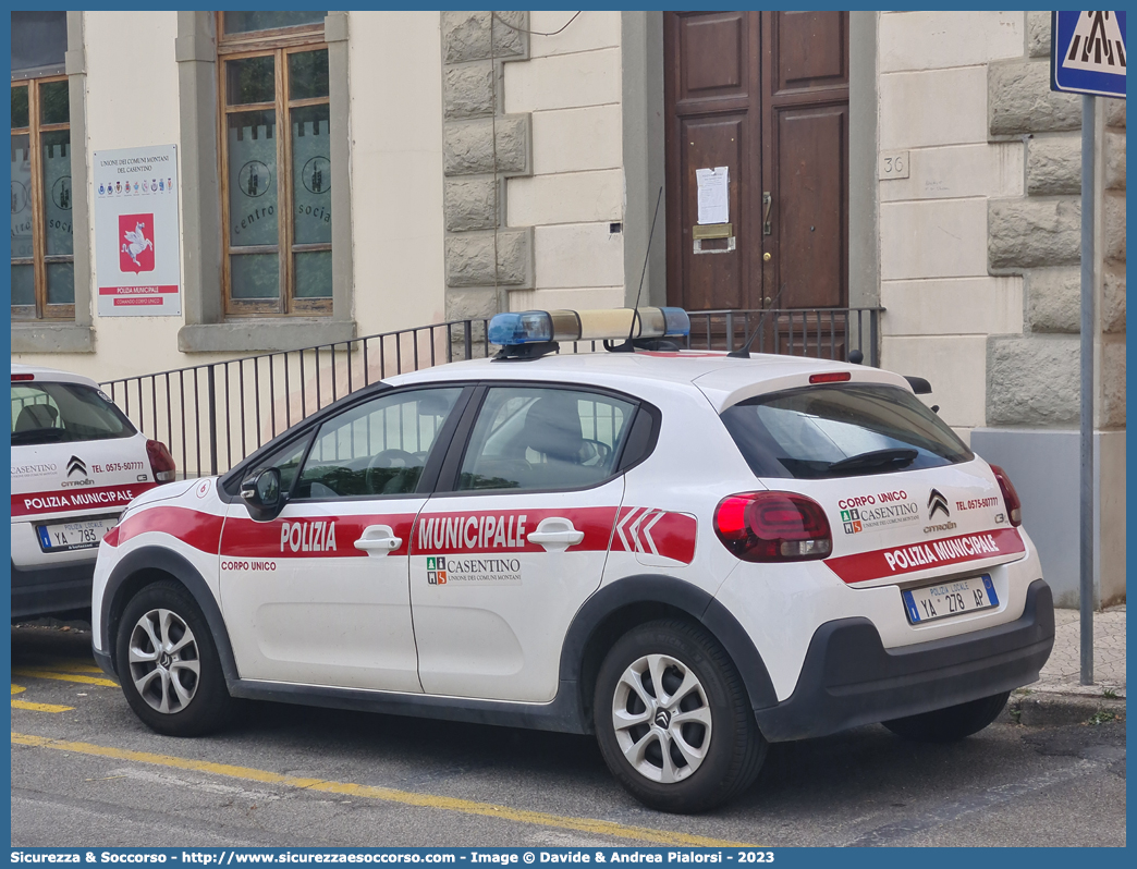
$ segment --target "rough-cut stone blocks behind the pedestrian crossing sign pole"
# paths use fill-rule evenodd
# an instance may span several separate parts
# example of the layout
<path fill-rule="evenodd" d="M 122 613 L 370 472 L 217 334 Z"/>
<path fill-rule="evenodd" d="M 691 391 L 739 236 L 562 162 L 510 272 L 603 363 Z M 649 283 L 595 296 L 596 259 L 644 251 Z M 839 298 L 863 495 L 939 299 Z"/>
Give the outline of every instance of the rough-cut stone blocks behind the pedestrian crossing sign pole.
<path fill-rule="evenodd" d="M 991 141 L 1026 147 L 1023 195 L 989 199 L 988 268 L 1023 275 L 1023 331 L 987 341 L 987 424 L 1077 427 L 1081 97 L 1049 88 L 1051 14 L 1027 14 L 1023 56 L 988 66 Z M 1126 424 L 1126 104 L 1098 102 L 1097 428 Z"/>

